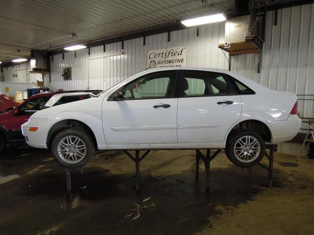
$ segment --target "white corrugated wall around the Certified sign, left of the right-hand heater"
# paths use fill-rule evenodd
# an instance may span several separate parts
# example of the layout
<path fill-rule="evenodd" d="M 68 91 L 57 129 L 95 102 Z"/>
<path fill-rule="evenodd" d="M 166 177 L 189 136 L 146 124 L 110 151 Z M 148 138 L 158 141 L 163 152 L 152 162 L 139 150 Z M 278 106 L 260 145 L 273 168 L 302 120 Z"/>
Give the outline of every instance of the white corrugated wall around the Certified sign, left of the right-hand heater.
<path fill-rule="evenodd" d="M 147 68 L 147 51 L 165 47 L 187 46 L 187 66 L 227 68 L 228 62 L 218 48 L 224 43 L 224 23 L 209 24 L 200 27 L 200 36 L 196 37 L 196 28 L 171 32 L 170 42 L 167 33 L 127 40 L 100 47 L 54 55 L 51 59 L 52 89 L 101 89 L 112 87 L 118 82 Z M 123 55 L 91 59 L 96 56 L 124 52 Z M 64 81 L 61 73 L 63 68 L 72 67 L 72 80 Z"/>

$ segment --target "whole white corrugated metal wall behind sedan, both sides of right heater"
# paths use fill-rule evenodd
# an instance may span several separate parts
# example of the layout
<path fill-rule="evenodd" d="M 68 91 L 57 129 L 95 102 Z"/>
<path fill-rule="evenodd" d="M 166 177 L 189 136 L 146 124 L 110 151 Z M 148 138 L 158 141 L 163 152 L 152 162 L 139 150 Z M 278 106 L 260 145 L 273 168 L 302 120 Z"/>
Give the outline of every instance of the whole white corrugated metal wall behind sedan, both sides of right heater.
<path fill-rule="evenodd" d="M 257 73 L 257 55 L 233 56 L 232 71 L 274 90 L 297 94 L 314 94 L 314 4 L 278 10 L 277 26 L 273 25 L 274 11 L 267 12 L 266 39 L 263 47 L 262 70 Z M 119 81 L 146 69 L 147 51 L 165 47 L 187 46 L 187 66 L 228 69 L 223 52 L 218 49 L 224 43 L 225 24 L 201 26 L 199 37 L 196 27 L 132 39 L 121 43 L 78 50 L 51 59 L 51 89 L 101 89 L 109 88 Z M 124 51 L 124 55 L 88 59 Z M 63 81 L 61 73 L 72 67 L 72 80 Z M 301 97 L 301 96 L 300 96 Z M 302 96 L 304 98 L 304 96 Z M 311 97 L 311 96 L 310 96 Z M 313 96 L 311 97 L 313 98 Z M 299 102 L 304 117 L 313 117 L 314 102 Z"/>

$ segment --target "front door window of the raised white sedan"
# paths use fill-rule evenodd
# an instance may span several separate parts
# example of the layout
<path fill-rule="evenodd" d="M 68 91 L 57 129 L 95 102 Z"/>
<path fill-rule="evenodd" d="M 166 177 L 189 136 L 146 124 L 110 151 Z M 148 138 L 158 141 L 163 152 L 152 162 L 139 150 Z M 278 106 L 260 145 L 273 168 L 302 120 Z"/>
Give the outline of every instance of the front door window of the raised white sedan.
<path fill-rule="evenodd" d="M 176 70 L 146 74 L 123 87 L 124 99 L 173 97 L 176 77 Z"/>

